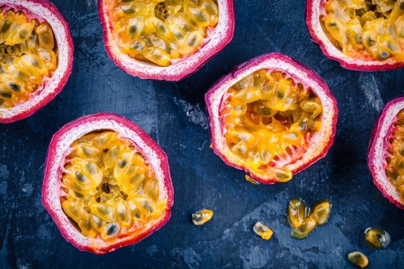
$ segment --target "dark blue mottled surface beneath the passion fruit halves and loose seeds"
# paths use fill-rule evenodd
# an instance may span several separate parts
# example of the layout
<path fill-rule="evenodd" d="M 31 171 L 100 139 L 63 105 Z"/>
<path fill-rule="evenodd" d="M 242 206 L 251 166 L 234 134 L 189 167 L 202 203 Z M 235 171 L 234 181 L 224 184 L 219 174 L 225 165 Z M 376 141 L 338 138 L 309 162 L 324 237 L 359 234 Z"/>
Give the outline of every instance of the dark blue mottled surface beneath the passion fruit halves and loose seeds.
<path fill-rule="evenodd" d="M 233 41 L 179 83 L 133 78 L 107 57 L 95 0 L 55 0 L 75 44 L 73 74 L 62 93 L 33 116 L 0 125 L 0 267 L 350 267 L 361 250 L 369 268 L 404 264 L 404 211 L 382 197 L 369 176 L 369 134 L 383 104 L 402 94 L 404 70 L 361 73 L 325 58 L 310 40 L 304 0 L 236 0 Z M 334 146 L 327 157 L 285 184 L 252 185 L 209 148 L 204 94 L 232 67 L 262 53 L 285 53 L 318 72 L 338 102 Z M 166 226 L 137 245 L 96 256 L 65 241 L 42 207 L 45 154 L 52 134 L 85 114 L 114 112 L 142 127 L 167 153 L 175 189 Z M 328 198 L 329 222 L 305 240 L 290 237 L 287 201 Z M 214 211 L 204 226 L 190 214 Z M 274 231 L 252 232 L 256 221 Z M 387 230 L 391 244 L 367 247 L 369 226 Z"/>

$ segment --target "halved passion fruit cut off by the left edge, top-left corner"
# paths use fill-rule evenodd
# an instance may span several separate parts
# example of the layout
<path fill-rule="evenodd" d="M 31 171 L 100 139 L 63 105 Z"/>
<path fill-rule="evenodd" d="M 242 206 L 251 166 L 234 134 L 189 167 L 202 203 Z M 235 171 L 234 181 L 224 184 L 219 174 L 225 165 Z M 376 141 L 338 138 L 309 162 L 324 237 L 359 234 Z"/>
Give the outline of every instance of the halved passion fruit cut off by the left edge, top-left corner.
<path fill-rule="evenodd" d="M 73 63 L 69 26 L 47 0 L 0 3 L 0 122 L 28 117 L 65 86 Z"/>

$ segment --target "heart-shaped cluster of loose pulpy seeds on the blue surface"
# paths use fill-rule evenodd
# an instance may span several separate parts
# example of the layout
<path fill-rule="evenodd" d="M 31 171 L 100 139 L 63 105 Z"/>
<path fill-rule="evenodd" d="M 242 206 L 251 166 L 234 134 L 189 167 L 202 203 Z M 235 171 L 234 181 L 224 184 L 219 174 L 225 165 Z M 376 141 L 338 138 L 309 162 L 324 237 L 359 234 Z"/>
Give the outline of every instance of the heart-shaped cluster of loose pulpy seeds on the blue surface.
<path fill-rule="evenodd" d="M 291 199 L 286 213 L 292 227 L 291 236 L 297 239 L 306 238 L 316 227 L 327 222 L 330 211 L 331 205 L 326 200 L 319 200 L 308 208 L 304 200 Z"/>

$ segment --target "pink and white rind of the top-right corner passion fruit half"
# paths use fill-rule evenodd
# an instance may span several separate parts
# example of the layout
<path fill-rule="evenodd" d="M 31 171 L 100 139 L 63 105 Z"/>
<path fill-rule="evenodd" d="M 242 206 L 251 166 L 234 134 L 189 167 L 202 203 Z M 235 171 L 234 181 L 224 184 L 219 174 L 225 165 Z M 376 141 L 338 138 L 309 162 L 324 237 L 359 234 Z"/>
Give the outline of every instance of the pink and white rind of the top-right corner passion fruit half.
<path fill-rule="evenodd" d="M 355 71 L 387 71 L 402 68 L 404 62 L 397 62 L 392 58 L 386 60 L 363 60 L 346 56 L 336 48 L 325 35 L 320 15 L 326 16 L 324 3 L 326 0 L 306 0 L 306 26 L 313 42 L 320 46 L 321 52 L 329 59 L 339 62 L 346 69 Z"/>

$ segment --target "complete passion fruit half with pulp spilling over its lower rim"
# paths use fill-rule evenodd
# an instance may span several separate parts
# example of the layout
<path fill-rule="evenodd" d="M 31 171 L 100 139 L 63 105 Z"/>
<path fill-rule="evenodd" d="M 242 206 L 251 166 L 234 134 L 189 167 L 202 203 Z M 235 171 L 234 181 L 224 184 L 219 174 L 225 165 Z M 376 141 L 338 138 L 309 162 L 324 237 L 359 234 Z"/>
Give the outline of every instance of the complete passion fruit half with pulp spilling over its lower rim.
<path fill-rule="evenodd" d="M 327 85 L 280 53 L 242 63 L 205 101 L 214 152 L 262 183 L 290 180 L 334 140 L 337 106 Z"/>

